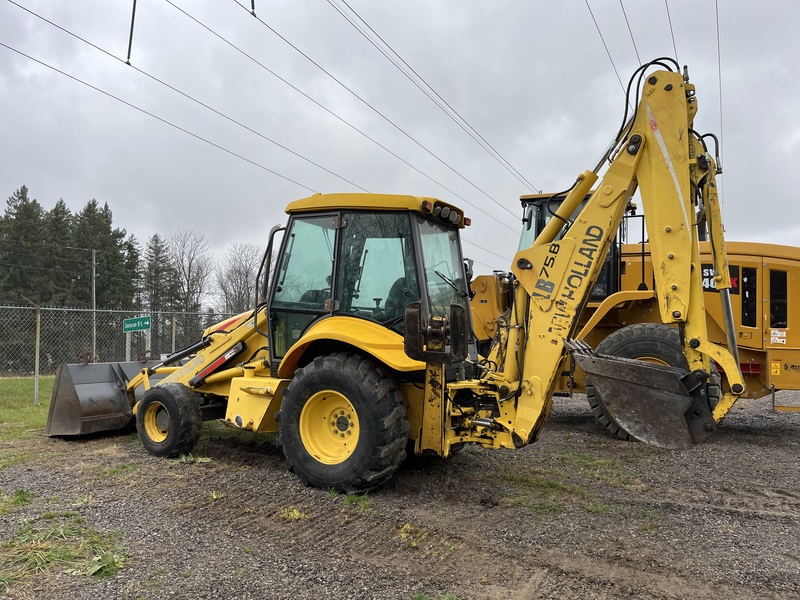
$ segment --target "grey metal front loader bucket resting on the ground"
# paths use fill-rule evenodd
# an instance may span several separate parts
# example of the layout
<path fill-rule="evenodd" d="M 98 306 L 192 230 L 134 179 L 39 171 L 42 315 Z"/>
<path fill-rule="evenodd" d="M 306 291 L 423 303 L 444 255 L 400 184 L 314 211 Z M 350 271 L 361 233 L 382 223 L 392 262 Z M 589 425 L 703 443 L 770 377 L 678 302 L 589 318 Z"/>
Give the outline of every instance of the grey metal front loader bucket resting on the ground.
<path fill-rule="evenodd" d="M 85 435 L 124 429 L 133 419 L 128 381 L 150 362 L 61 365 L 56 373 L 45 434 Z"/>

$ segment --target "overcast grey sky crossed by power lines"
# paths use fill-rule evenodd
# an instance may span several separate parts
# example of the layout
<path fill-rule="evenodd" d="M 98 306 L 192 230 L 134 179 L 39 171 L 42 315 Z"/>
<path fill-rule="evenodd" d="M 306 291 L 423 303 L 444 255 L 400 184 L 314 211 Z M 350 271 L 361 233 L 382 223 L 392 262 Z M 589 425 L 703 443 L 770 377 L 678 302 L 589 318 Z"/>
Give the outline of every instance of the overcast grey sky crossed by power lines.
<path fill-rule="evenodd" d="M 520 194 L 592 168 L 622 120 L 620 79 L 677 50 L 697 86 L 695 129 L 722 137 L 728 239 L 800 244 L 796 0 L 256 0 L 274 31 L 250 0 L 171 1 L 137 4 L 131 65 L 143 74 L 124 64 L 131 1 L 0 0 L 0 43 L 139 109 L 0 46 L 0 198 L 22 185 L 45 209 L 94 198 L 142 244 L 188 228 L 222 255 L 232 241 L 263 246 L 311 190 L 434 196 L 472 218 L 476 271 L 507 269 Z"/>

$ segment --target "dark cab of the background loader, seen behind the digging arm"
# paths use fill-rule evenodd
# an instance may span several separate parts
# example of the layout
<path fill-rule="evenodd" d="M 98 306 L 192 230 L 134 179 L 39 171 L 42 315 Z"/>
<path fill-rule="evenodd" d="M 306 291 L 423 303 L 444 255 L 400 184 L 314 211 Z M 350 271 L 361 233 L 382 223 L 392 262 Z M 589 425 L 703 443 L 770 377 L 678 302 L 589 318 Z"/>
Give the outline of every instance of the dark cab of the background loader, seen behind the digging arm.
<path fill-rule="evenodd" d="M 575 209 L 575 212 L 570 217 L 569 221 L 572 223 L 578 214 L 583 210 L 583 207 L 588 202 L 589 198 L 591 198 L 592 193 L 586 195 L 583 199 L 583 202 L 580 203 L 578 208 Z M 525 248 L 530 248 L 533 245 L 534 240 L 538 237 L 538 235 L 542 232 L 545 225 L 550 222 L 556 213 L 556 211 L 561 206 L 561 203 L 564 201 L 565 196 L 563 194 L 529 194 L 525 196 L 520 196 L 520 202 L 522 202 L 522 234 L 520 235 L 519 240 L 519 250 L 523 250 Z M 629 204 L 626 210 L 626 218 L 623 218 L 622 224 L 620 225 L 620 231 L 617 234 L 617 237 L 614 240 L 614 243 L 611 244 L 611 249 L 609 250 L 608 254 L 606 255 L 606 260 L 603 263 L 603 268 L 600 271 L 600 275 L 597 278 L 597 283 L 595 283 L 594 287 L 592 288 L 592 292 L 589 295 L 590 301 L 601 301 L 614 294 L 620 290 L 620 244 L 625 240 L 627 235 L 627 217 L 635 215 L 635 206 L 633 204 Z M 561 239 L 564 234 L 567 232 L 568 225 L 565 223 L 565 227 L 559 232 L 556 236 L 556 239 Z M 624 264 L 622 265 L 624 269 Z"/>

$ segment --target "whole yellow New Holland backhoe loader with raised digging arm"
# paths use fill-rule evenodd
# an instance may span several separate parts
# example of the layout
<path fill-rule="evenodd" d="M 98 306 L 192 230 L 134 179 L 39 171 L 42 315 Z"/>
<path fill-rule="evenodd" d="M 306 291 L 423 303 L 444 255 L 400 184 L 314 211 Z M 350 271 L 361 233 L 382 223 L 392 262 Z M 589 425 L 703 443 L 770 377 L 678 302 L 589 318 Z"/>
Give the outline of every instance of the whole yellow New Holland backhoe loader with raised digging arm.
<path fill-rule="evenodd" d="M 308 484 L 367 490 L 407 452 L 447 457 L 466 443 L 534 442 L 571 355 L 639 439 L 702 442 L 744 391 L 737 357 L 706 332 L 698 209 L 723 313 L 731 312 L 716 166 L 693 129 L 697 98 L 686 71 L 658 59 L 637 69 L 629 96 L 634 85 L 633 114 L 626 109 L 596 167 L 514 257 L 508 326 L 488 356 L 472 343 L 459 238 L 470 221 L 459 208 L 417 196 L 318 194 L 289 204 L 287 225 L 271 231 L 254 310 L 135 374 L 131 363 L 62 365 L 48 434 L 135 420 L 148 452 L 175 456 L 193 448 L 203 420 L 222 419 L 277 432 L 287 465 Z M 661 320 L 678 326 L 687 369 L 572 341 L 637 186 Z M 735 352 L 735 340 L 728 348 Z"/>

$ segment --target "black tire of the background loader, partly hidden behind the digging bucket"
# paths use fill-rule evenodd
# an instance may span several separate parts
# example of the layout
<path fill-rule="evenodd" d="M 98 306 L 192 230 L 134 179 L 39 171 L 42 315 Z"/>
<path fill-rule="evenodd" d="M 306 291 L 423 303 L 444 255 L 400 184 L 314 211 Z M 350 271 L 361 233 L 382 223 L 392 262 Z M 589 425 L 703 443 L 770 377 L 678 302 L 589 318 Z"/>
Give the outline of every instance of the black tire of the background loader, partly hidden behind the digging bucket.
<path fill-rule="evenodd" d="M 661 323 L 637 323 L 618 329 L 600 342 L 595 352 L 689 369 L 681 348 L 680 333 L 676 328 Z M 634 440 L 608 412 L 589 375 L 586 376 L 586 399 L 595 418 L 608 433 L 620 440 Z"/>

